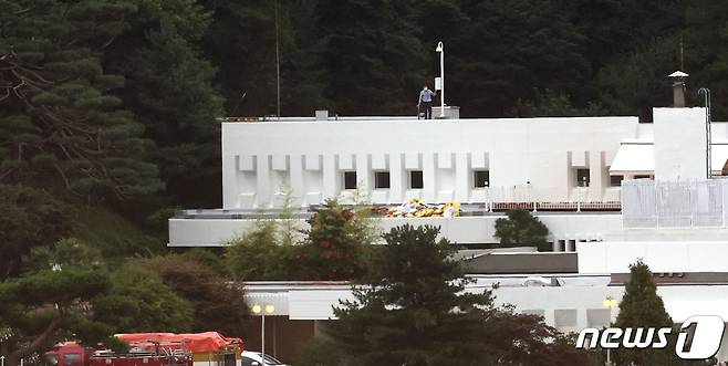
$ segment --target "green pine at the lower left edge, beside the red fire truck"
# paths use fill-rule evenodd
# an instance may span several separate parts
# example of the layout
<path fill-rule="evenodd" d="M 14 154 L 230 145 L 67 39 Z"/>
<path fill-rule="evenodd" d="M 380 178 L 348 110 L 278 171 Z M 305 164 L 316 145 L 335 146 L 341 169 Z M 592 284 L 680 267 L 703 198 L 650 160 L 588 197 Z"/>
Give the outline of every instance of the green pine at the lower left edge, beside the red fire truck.
<path fill-rule="evenodd" d="M 114 333 L 115 325 L 96 318 L 89 306 L 111 286 L 97 260 L 84 244 L 62 240 L 50 250 L 34 248 L 34 266 L 0 282 L 0 353 L 9 365 L 64 337 L 94 344 Z"/>

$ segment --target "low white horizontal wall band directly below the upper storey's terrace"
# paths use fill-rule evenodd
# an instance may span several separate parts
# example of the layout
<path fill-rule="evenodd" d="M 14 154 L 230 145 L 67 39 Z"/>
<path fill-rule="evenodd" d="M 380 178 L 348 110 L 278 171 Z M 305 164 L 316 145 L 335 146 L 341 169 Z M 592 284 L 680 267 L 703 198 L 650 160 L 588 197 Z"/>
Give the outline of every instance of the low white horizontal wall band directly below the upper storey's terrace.
<path fill-rule="evenodd" d="M 622 227 L 620 215 L 537 215 L 549 228 L 554 241 L 602 240 L 610 232 Z M 377 219 L 382 231 L 409 223 L 414 226 L 431 224 L 441 229 L 441 236 L 457 243 L 495 243 L 495 223 L 503 216 L 445 218 L 384 218 Z M 169 247 L 220 247 L 229 239 L 248 230 L 253 220 L 236 219 L 170 219 Z M 297 220 L 297 226 L 308 229 L 304 220 Z M 565 248 L 562 245 L 562 248 Z M 571 247 L 573 251 L 573 245 Z"/>

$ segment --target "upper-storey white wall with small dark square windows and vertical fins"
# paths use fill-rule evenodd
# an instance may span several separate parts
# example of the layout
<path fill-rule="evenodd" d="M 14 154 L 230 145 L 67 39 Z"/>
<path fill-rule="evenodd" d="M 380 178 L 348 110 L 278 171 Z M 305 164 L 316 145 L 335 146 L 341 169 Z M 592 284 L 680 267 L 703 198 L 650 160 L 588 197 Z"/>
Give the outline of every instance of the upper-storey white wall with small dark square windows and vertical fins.
<path fill-rule="evenodd" d="M 344 170 L 382 203 L 485 202 L 475 169 L 490 170 L 492 195 L 568 201 L 584 167 L 585 199 L 600 201 L 620 143 L 639 134 L 636 117 L 223 123 L 223 208 L 270 207 L 284 181 L 301 205 L 319 203 L 342 190 Z M 375 170 L 391 172 L 389 189 L 372 190 Z M 423 170 L 422 190 L 407 189 L 409 170 Z"/>

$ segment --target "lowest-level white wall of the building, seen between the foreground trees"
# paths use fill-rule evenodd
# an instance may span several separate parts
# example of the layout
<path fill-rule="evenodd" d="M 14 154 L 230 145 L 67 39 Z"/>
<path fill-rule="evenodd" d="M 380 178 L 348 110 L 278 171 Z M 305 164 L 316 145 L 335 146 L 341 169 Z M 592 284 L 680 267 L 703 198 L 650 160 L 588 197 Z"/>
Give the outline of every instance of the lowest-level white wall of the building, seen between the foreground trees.
<path fill-rule="evenodd" d="M 491 278 L 488 282 L 496 281 Z M 503 279 L 505 281 L 509 279 Z M 574 278 L 571 278 L 573 281 Z M 589 280 L 589 279 L 586 279 Z M 275 286 L 275 285 L 273 285 Z M 466 291 L 482 292 L 491 289 L 483 283 L 469 284 Z M 624 295 L 624 286 L 568 285 L 561 287 L 522 287 L 502 285 L 493 291 L 497 305 L 513 305 L 517 312 L 538 314 L 547 324 L 561 332 L 579 332 L 585 327 L 606 326 L 616 320 L 620 309 L 605 309 L 603 300 L 612 296 L 618 304 Z M 658 286 L 657 294 L 663 299 L 665 310 L 675 323 L 682 323 L 693 315 L 718 315 L 728 320 L 728 285 L 670 285 Z M 294 285 L 289 290 L 271 290 L 264 286 L 248 291 L 246 297 L 250 303 L 261 299 L 269 301 L 273 296 L 279 302 L 278 315 L 289 315 L 290 320 L 325 321 L 335 320 L 333 307 L 341 306 L 340 301 L 353 300 L 345 285 Z M 278 307 L 285 311 L 278 312 Z M 718 360 L 728 359 L 728 347 L 719 351 Z"/>

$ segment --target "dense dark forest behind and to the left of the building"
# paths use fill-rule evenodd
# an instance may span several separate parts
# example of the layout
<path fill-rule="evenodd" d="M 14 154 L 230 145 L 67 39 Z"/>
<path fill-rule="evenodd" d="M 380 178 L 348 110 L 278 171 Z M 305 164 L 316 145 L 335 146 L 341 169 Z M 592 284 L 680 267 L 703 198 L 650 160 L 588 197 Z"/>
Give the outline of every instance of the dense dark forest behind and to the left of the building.
<path fill-rule="evenodd" d="M 129 322 L 134 279 L 180 304 L 168 324 L 215 321 L 175 269 L 222 281 L 219 253 L 164 243 L 175 209 L 220 206 L 216 117 L 277 114 L 279 81 L 282 116 L 414 115 L 438 41 L 467 117 L 649 122 L 682 69 L 728 118 L 726 1 L 0 0 L 0 346 L 24 339 L 11 315 L 41 332 L 25 310 L 73 294 Z"/>

